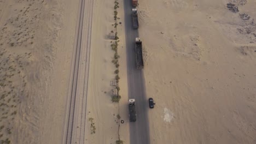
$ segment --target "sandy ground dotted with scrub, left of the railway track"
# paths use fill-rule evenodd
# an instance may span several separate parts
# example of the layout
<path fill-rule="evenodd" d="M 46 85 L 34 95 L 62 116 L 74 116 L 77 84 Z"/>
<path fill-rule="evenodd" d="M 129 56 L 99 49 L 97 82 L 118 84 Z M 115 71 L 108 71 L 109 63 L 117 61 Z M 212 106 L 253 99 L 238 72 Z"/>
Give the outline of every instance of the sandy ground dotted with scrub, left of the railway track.
<path fill-rule="evenodd" d="M 0 7 L 0 140 L 61 143 L 78 0 Z"/>

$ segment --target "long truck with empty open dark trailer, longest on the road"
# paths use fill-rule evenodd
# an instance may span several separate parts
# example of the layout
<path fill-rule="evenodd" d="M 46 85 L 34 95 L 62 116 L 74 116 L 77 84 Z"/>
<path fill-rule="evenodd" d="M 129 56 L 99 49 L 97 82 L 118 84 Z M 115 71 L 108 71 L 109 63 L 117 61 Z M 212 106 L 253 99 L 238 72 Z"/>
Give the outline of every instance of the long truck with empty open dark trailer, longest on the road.
<path fill-rule="evenodd" d="M 136 65 L 137 69 L 143 69 L 143 56 L 142 56 L 142 41 L 141 38 L 135 39 L 135 51 L 136 51 Z"/>

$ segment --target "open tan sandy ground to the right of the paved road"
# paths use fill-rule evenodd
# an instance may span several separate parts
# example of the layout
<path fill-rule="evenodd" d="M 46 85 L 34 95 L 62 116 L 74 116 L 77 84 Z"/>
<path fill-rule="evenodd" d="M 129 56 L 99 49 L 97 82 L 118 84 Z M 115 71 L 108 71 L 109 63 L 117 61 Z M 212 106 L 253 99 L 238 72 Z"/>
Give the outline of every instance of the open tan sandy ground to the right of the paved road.
<path fill-rule="evenodd" d="M 146 90 L 156 103 L 152 143 L 256 143 L 255 8 L 250 0 L 139 1 Z"/>

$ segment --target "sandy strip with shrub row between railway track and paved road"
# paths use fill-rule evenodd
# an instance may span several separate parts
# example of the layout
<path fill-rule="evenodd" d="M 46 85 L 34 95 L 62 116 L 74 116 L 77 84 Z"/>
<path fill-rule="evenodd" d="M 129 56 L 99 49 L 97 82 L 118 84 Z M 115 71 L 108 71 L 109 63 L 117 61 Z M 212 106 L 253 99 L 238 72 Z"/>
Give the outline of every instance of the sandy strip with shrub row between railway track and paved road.
<path fill-rule="evenodd" d="M 123 2 L 119 2 L 118 22 L 124 23 Z M 104 13 L 102 13 L 104 11 Z M 88 143 L 115 143 L 118 140 L 118 104 L 112 103 L 110 98 L 110 81 L 114 80 L 115 65 L 112 63 L 114 51 L 107 35 L 114 31 L 114 1 L 94 1 L 94 13 L 92 21 L 91 56 L 89 71 L 89 87 L 87 99 L 86 137 Z M 124 27 L 118 25 L 119 37 L 119 76 L 121 77 L 119 87 L 121 88 L 120 105 L 127 103 L 125 95 L 126 85 L 126 57 L 124 48 Z M 124 89 L 124 90 L 123 90 Z M 126 92 L 127 93 L 127 92 Z M 124 102 L 125 101 L 125 102 Z M 127 113 L 127 107 L 120 107 L 120 113 Z M 121 119 L 127 116 L 120 115 Z M 94 118 L 96 133 L 91 134 L 89 118 Z M 121 139 L 129 142 L 129 135 L 123 133 L 122 129 L 129 129 L 127 123 L 122 125 Z"/>

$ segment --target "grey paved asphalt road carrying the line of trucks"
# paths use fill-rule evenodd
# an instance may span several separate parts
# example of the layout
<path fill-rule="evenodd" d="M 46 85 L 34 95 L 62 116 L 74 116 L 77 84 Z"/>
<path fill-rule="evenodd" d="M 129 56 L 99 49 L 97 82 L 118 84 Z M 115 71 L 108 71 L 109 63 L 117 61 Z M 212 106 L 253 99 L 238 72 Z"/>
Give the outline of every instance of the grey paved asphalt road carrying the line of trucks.
<path fill-rule="evenodd" d="M 125 35 L 127 53 L 127 79 L 129 98 L 136 100 L 137 121 L 130 122 L 130 143 L 149 144 L 148 125 L 148 100 L 146 98 L 144 72 L 136 69 L 135 60 L 135 38 L 138 30 L 132 28 L 132 5 L 131 0 L 124 1 L 125 10 Z M 143 45 L 143 39 L 142 39 Z"/>

